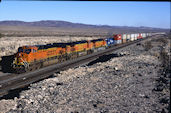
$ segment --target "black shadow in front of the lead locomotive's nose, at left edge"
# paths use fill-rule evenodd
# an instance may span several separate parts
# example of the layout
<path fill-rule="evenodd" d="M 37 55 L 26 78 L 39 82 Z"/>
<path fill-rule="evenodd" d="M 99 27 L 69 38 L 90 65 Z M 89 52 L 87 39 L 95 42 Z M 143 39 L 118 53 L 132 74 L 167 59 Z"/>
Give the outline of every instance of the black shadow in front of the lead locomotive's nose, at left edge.
<path fill-rule="evenodd" d="M 0 71 L 3 73 L 13 73 L 11 64 L 13 63 L 14 55 L 3 56 L 0 61 Z"/>

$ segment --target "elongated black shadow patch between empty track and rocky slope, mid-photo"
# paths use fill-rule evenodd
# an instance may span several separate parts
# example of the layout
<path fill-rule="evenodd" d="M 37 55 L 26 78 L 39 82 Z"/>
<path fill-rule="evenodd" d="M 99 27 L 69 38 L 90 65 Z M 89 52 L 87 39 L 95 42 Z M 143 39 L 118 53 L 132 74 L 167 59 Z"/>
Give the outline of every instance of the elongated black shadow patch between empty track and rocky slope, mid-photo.
<path fill-rule="evenodd" d="M 124 56 L 124 55 L 125 54 L 116 54 L 116 53 L 103 55 L 103 56 L 100 56 L 99 58 L 97 58 L 96 60 L 93 60 L 92 62 L 89 62 L 87 64 L 87 66 L 91 66 L 91 65 L 94 65 L 94 64 L 99 63 L 99 62 L 106 62 L 106 61 L 109 61 L 110 59 L 112 59 L 114 57 L 121 57 L 121 56 Z"/>

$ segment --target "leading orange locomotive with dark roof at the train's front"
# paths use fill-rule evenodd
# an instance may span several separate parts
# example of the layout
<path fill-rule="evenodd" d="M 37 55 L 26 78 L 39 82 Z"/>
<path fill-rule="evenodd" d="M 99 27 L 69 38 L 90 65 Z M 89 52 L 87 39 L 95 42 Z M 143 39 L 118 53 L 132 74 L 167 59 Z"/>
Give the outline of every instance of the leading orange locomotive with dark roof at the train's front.
<path fill-rule="evenodd" d="M 64 61 L 65 48 L 63 46 L 23 46 L 18 49 L 13 61 L 13 68 L 17 73 L 32 71 L 43 66 Z"/>

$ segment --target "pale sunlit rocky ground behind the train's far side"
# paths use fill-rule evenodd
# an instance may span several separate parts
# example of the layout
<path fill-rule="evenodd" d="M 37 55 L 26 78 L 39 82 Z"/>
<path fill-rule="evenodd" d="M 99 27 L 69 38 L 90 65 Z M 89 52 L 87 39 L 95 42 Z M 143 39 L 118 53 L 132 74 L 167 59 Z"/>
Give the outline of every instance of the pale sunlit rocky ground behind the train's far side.
<path fill-rule="evenodd" d="M 71 42 L 78 40 L 91 40 L 100 37 L 70 37 L 70 36 L 42 36 L 42 37 L 2 37 L 0 38 L 0 60 L 2 56 L 12 55 L 18 47 L 24 45 L 41 45 L 54 42 Z"/>

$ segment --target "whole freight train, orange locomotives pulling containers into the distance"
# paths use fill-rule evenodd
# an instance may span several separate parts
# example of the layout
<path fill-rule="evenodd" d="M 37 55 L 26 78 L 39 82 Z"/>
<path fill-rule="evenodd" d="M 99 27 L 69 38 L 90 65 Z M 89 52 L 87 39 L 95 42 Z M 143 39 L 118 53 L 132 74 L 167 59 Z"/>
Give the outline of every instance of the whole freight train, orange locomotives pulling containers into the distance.
<path fill-rule="evenodd" d="M 22 46 L 15 54 L 12 68 L 16 73 L 33 71 L 156 34 L 164 33 L 114 34 L 108 38 L 95 40 Z"/>

